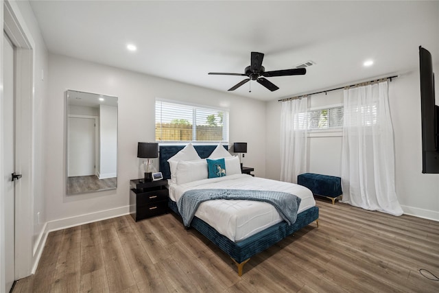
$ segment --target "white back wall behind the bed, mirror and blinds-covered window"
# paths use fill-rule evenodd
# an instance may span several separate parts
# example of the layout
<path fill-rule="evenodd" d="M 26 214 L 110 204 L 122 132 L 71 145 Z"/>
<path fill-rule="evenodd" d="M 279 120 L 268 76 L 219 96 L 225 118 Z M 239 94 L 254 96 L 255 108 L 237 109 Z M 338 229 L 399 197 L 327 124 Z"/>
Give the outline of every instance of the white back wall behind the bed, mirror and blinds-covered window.
<path fill-rule="evenodd" d="M 230 142 L 246 141 L 246 165 L 265 176 L 265 102 L 226 92 L 97 65 L 65 56 L 49 55 L 49 96 L 45 141 L 50 178 L 46 191 L 47 220 L 51 228 L 128 212 L 130 179 L 141 178 L 137 143 L 155 139 L 155 98 L 230 109 Z M 72 89 L 119 97 L 117 190 L 66 196 L 65 91 Z M 84 215 L 84 216 L 81 216 Z"/>

